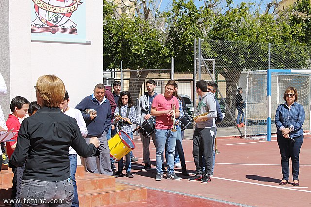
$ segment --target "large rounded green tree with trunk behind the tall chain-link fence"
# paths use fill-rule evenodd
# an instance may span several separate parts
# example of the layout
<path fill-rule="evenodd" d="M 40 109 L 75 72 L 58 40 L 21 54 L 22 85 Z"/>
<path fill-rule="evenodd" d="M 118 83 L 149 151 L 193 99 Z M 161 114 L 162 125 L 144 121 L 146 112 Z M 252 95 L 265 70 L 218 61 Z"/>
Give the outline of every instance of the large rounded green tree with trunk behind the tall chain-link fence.
<path fill-rule="evenodd" d="M 276 45 L 296 44 L 288 32 L 288 20 L 284 16 L 262 14 L 253 4 L 241 3 L 223 15 L 213 19 L 212 29 L 207 35 L 204 58 L 215 59 L 216 70 L 226 80 L 226 103 L 232 114 L 235 112 L 236 88 L 242 70 L 268 69 L 268 43 Z M 298 29 L 299 30 L 299 29 Z M 224 42 L 225 41 L 225 42 Z M 283 46 L 271 50 L 274 68 L 292 68 L 299 52 Z M 300 65 L 306 60 L 299 58 Z M 228 116 L 225 121 L 230 119 Z"/>

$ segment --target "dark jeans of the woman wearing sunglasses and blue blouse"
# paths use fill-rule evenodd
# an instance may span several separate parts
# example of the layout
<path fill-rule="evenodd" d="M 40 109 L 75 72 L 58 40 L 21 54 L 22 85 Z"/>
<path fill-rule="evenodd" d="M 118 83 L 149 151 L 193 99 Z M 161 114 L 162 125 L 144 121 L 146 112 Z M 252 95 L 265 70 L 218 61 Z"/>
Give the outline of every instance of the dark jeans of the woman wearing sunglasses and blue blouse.
<path fill-rule="evenodd" d="M 282 165 L 282 174 L 283 180 L 288 180 L 290 167 L 289 167 L 289 159 L 291 157 L 292 160 L 292 175 L 293 180 L 299 180 L 299 154 L 300 148 L 303 142 L 303 135 L 298 137 L 294 137 L 296 142 L 294 143 L 292 140 L 284 138 L 283 136 L 277 136 L 277 144 L 280 148 L 281 153 L 281 165 Z"/>

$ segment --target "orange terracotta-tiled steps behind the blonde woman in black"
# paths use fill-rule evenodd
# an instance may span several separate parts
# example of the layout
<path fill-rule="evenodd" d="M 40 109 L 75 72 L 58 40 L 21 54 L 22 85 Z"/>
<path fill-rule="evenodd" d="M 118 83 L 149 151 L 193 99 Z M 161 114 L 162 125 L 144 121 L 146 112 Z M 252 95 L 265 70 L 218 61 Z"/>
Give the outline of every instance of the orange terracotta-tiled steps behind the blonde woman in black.
<path fill-rule="evenodd" d="M 147 199 L 147 189 L 116 183 L 114 176 L 84 172 L 77 166 L 76 181 L 81 207 L 99 207 Z M 0 172 L 0 207 L 8 207 L 2 199 L 11 198 L 13 173 L 9 168 Z"/>

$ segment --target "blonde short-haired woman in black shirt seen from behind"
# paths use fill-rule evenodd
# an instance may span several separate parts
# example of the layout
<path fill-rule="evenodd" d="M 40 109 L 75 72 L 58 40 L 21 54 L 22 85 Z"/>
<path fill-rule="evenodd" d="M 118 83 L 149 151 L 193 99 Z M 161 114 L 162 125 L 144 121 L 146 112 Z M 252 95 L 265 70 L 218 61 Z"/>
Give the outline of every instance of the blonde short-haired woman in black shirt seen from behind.
<path fill-rule="evenodd" d="M 96 156 L 99 155 L 99 141 L 94 137 L 87 145 L 77 121 L 59 109 L 65 97 L 65 86 L 60 78 L 55 75 L 39 77 L 35 92 L 41 108 L 22 122 L 9 164 L 18 167 L 26 162 L 21 184 L 24 207 L 47 207 L 49 203 L 53 207 L 71 207 L 69 147 L 80 156 Z M 62 202 L 55 204 L 51 200 Z"/>

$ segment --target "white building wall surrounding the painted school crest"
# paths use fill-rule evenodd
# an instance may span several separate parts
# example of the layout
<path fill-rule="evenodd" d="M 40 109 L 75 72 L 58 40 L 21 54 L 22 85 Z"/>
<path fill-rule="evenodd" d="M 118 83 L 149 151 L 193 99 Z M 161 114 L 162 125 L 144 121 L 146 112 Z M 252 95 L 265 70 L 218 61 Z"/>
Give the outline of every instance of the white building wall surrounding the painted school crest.
<path fill-rule="evenodd" d="M 9 15 L 4 20 L 9 23 L 6 38 L 9 41 L 6 46 L 9 64 L 0 66 L 0 69 L 6 79 L 10 100 L 20 95 L 35 101 L 37 78 L 54 74 L 65 83 L 70 106 L 74 107 L 92 93 L 97 83 L 103 82 L 103 1 L 83 1 L 86 5 L 86 40 L 91 44 L 31 42 L 32 8 L 29 0 L 0 0 L 0 15 L 9 6 Z M 7 33 L 6 28 L 0 25 L 2 33 Z M 0 56 L 0 63 L 7 61 L 8 58 L 4 58 L 5 55 Z M 2 108 L 8 107 L 7 104 L 8 101 L 2 101 Z"/>

